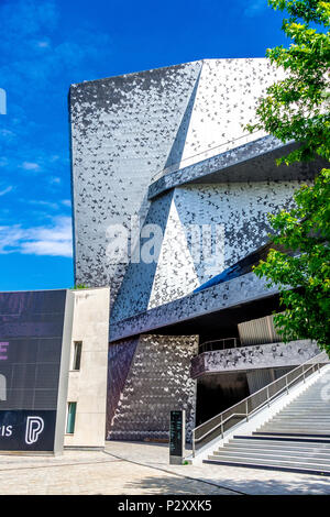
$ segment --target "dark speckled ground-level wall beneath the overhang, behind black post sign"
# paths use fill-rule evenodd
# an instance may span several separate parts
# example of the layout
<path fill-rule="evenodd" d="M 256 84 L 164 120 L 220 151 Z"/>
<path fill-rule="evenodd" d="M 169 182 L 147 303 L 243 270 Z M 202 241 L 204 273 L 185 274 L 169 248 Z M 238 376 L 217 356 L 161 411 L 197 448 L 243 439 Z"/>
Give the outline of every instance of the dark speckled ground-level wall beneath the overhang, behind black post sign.
<path fill-rule="evenodd" d="M 121 363 L 123 353 L 112 352 L 111 346 L 123 348 L 124 343 L 110 344 L 108 417 L 113 411 L 112 399 L 118 399 L 117 391 L 111 392 L 111 372 L 118 367 L 112 363 Z M 127 342 L 127 346 L 133 350 L 135 344 Z M 197 351 L 196 336 L 140 336 L 114 415 L 111 421 L 108 419 L 107 438 L 167 439 L 169 411 L 186 409 L 187 439 L 190 440 L 195 426 L 196 382 L 189 376 L 189 365 Z"/>

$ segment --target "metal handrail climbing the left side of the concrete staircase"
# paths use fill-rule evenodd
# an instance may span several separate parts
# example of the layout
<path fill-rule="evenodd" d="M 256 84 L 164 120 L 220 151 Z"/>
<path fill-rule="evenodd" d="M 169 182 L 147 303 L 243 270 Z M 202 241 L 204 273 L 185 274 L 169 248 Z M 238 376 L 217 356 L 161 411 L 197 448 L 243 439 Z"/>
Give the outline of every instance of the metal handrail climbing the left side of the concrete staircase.
<path fill-rule="evenodd" d="M 321 352 L 320 354 L 318 355 L 315 355 L 314 358 L 309 359 L 308 361 L 306 361 L 305 363 L 302 364 L 299 364 L 299 366 L 297 366 L 296 369 L 294 370 L 290 370 L 288 373 L 286 373 L 285 375 L 283 375 L 282 377 L 278 377 L 276 381 L 273 381 L 272 383 L 267 384 L 266 386 L 264 386 L 263 388 L 258 389 L 257 392 L 253 393 L 252 395 L 250 395 L 249 397 L 246 398 L 243 398 L 242 400 L 240 400 L 239 403 L 234 404 L 233 406 L 224 409 L 223 411 L 221 411 L 220 414 L 216 415 L 215 417 L 210 418 L 209 420 L 205 421 L 204 424 L 200 424 L 199 426 L 197 426 L 195 429 L 193 429 L 193 457 L 195 458 L 195 453 L 196 453 L 196 443 L 200 442 L 201 440 L 204 440 L 206 437 L 208 437 L 209 435 L 211 435 L 212 432 L 215 432 L 217 429 L 221 428 L 221 436 L 223 438 L 223 426 L 227 421 L 231 420 L 233 417 L 243 417 L 243 418 L 246 418 L 246 421 L 249 421 L 249 418 L 254 414 L 256 413 L 261 407 L 263 406 L 271 406 L 271 402 L 277 397 L 282 392 L 286 391 L 286 393 L 288 394 L 289 393 L 289 387 L 292 384 L 296 383 L 301 376 L 304 377 L 304 382 L 306 381 L 306 373 L 309 372 L 310 370 L 314 370 L 315 367 L 318 369 L 318 371 L 320 372 L 320 365 L 324 365 L 324 364 L 329 364 L 329 363 L 324 363 L 324 362 L 314 362 L 311 364 L 311 366 L 307 370 L 305 370 L 305 366 L 307 364 L 310 364 L 311 361 L 315 361 L 317 358 L 320 358 L 321 355 L 324 355 L 324 352 Z M 295 372 L 297 372 L 298 370 L 302 369 L 302 372 L 296 376 L 293 381 L 288 382 L 288 376 L 289 375 L 293 375 L 295 374 Z M 285 386 L 280 387 L 277 392 L 275 392 L 273 395 L 270 396 L 270 387 L 275 385 L 275 384 L 278 384 L 280 381 L 284 381 L 285 380 Z M 260 404 L 258 406 L 256 406 L 255 408 L 253 408 L 251 411 L 249 411 L 249 402 L 252 400 L 253 398 L 255 398 L 258 394 L 261 394 L 262 392 L 265 392 L 266 393 L 266 399 Z M 237 406 L 240 406 L 242 404 L 245 403 L 245 413 L 232 413 L 231 415 L 229 415 L 229 417 L 227 417 L 226 419 L 222 418 L 222 415 L 228 413 L 228 411 L 231 411 L 234 407 Z M 211 429 L 209 429 L 205 435 L 202 435 L 201 437 L 198 437 L 196 439 L 195 435 L 196 435 L 196 431 L 198 429 L 201 429 L 204 426 L 206 426 L 207 424 L 211 422 L 212 420 L 215 419 L 219 419 L 220 418 L 220 422 L 217 424 L 215 427 L 212 427 Z"/>

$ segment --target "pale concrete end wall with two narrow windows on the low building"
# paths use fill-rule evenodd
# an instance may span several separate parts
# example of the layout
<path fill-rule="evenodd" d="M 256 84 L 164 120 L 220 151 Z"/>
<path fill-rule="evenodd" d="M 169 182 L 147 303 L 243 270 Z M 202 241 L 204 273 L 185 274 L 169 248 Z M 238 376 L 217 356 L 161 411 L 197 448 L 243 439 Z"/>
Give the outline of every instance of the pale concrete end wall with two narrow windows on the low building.
<path fill-rule="evenodd" d="M 105 446 L 109 288 L 69 290 L 74 298 L 72 361 L 75 341 L 81 341 L 80 370 L 68 372 L 67 402 L 77 403 L 73 435 L 65 447 Z M 73 364 L 70 363 L 70 369 Z"/>

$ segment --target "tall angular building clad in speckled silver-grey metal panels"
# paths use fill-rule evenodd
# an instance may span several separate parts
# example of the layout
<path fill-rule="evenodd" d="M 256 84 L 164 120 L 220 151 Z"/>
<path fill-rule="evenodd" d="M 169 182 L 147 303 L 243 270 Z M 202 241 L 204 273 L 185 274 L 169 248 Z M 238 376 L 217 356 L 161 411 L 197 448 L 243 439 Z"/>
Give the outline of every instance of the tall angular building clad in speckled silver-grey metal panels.
<path fill-rule="evenodd" d="M 252 273 L 268 212 L 322 163 L 277 166 L 298 144 L 249 133 L 283 77 L 267 59 L 204 59 L 73 85 L 75 275 L 109 285 L 107 439 L 191 429 L 317 354 L 284 345 L 278 293 Z"/>

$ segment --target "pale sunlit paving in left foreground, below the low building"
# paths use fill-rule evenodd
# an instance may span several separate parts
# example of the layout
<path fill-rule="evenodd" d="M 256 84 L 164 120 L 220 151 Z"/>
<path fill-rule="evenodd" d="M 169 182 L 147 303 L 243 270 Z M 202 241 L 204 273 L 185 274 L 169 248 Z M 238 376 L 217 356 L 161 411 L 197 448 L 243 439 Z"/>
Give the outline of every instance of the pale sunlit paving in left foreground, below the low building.
<path fill-rule="evenodd" d="M 65 451 L 61 457 L 0 455 L 0 495 L 231 495 L 229 490 L 109 453 Z"/>

